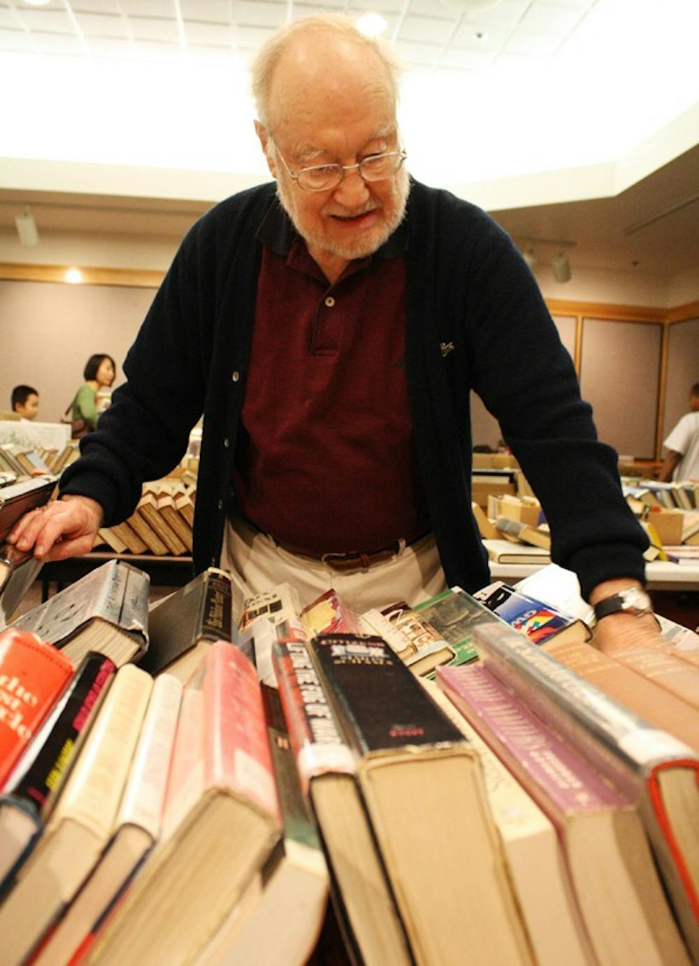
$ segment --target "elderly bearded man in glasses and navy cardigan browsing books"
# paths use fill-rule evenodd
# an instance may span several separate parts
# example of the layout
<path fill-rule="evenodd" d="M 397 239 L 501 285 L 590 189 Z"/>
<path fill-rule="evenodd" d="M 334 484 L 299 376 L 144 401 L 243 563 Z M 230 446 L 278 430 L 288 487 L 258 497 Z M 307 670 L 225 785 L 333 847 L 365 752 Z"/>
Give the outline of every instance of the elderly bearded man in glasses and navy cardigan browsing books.
<path fill-rule="evenodd" d="M 266 43 L 253 80 L 276 188 L 189 231 L 61 500 L 12 539 L 88 551 L 204 412 L 196 569 L 221 561 L 242 590 L 290 581 L 304 601 L 334 586 L 360 609 L 475 590 L 473 388 L 541 498 L 553 558 L 604 602 L 604 645 L 657 639 L 616 456 L 512 242 L 410 181 L 390 55 L 313 17 Z"/>

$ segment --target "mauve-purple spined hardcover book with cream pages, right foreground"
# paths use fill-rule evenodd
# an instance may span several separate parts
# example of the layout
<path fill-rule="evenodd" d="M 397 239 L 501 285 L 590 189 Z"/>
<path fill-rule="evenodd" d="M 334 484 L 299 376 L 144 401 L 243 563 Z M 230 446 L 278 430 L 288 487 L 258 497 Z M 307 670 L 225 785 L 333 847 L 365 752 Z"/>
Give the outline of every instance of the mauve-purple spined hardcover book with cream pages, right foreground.
<path fill-rule="evenodd" d="M 440 668 L 437 682 L 559 830 L 600 963 L 688 966 L 629 796 L 482 665 Z"/>

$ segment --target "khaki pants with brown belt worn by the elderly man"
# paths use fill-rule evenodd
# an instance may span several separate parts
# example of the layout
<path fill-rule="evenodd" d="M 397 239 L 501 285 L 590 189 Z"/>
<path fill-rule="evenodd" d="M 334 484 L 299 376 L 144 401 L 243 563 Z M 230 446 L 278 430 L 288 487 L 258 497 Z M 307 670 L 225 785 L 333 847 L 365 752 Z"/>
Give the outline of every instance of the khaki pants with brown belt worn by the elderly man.
<path fill-rule="evenodd" d="M 340 572 L 322 560 L 291 554 L 245 520 L 226 525 L 221 568 L 233 578 L 234 617 L 242 600 L 277 583 L 291 583 L 301 607 L 311 604 L 332 587 L 357 614 L 384 608 L 396 601 L 418 604 L 446 589 L 436 543 L 430 533 L 390 560 L 366 570 Z"/>

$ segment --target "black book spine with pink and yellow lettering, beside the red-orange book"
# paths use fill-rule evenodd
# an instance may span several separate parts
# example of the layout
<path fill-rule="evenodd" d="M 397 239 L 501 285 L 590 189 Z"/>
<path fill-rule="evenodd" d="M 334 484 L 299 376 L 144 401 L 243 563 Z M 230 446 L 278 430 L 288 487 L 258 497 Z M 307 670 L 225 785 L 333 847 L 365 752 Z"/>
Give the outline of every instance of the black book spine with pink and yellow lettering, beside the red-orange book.
<path fill-rule="evenodd" d="M 44 821 L 58 789 L 70 774 L 115 672 L 109 658 L 96 653 L 85 657 L 68 692 L 25 753 L 26 761 L 23 758 L 20 762 L 21 774 L 13 776 L 14 796 L 30 802 Z"/>

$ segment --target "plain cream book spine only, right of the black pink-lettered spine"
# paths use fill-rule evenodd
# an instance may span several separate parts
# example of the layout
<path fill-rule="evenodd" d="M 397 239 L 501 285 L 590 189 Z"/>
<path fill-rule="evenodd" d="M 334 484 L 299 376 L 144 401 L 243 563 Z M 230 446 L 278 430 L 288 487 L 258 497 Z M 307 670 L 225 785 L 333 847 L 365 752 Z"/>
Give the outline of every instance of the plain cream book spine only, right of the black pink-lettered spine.
<path fill-rule="evenodd" d="M 108 838 L 146 713 L 153 678 L 125 665 L 117 672 L 49 826 L 66 818 Z"/>

